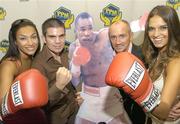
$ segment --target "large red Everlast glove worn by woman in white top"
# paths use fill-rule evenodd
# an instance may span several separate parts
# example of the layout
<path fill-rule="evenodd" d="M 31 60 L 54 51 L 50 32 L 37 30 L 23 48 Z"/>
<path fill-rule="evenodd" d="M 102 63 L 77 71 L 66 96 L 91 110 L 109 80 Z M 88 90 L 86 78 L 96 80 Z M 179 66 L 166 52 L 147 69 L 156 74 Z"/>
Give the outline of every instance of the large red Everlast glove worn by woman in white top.
<path fill-rule="evenodd" d="M 129 52 L 118 53 L 106 74 L 106 83 L 122 88 L 145 112 L 152 111 L 160 103 L 156 89 L 143 63 Z"/>

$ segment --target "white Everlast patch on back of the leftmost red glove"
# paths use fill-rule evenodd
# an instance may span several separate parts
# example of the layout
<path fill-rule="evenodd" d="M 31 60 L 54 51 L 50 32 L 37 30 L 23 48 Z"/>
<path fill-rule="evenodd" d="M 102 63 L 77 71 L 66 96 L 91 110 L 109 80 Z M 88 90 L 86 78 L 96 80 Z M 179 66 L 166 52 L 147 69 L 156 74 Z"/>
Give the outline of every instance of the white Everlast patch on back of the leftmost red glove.
<path fill-rule="evenodd" d="M 11 95 L 13 99 L 14 106 L 23 104 L 21 88 L 19 81 L 15 82 L 11 87 Z"/>

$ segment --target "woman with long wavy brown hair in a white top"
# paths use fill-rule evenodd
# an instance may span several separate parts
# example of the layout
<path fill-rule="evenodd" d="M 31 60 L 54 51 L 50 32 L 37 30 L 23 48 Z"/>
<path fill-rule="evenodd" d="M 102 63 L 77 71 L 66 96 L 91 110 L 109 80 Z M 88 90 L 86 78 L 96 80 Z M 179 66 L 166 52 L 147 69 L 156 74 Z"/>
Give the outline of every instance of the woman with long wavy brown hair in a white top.
<path fill-rule="evenodd" d="M 152 111 L 153 123 L 179 124 L 168 114 L 180 96 L 180 22 L 176 11 L 156 6 L 149 13 L 143 53 L 155 87 L 161 91 L 160 104 Z"/>

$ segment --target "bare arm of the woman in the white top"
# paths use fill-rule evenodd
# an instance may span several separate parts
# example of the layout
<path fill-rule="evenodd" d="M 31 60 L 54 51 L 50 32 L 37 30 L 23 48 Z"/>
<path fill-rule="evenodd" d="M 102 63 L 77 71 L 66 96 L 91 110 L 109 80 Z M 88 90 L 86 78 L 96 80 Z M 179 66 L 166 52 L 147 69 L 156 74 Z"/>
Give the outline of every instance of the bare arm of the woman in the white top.
<path fill-rule="evenodd" d="M 154 109 L 153 115 L 159 119 L 165 120 L 175 104 L 176 97 L 180 90 L 180 59 L 172 60 L 166 69 L 164 87 L 161 94 L 160 104 Z"/>

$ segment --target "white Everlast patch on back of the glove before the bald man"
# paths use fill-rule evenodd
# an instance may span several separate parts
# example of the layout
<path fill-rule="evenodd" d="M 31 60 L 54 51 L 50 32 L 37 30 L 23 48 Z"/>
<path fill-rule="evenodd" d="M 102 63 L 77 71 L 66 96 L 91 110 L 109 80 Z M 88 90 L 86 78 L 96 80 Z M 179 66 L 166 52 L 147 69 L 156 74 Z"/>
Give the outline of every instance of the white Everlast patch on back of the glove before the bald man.
<path fill-rule="evenodd" d="M 129 85 L 133 90 L 135 90 L 142 81 L 144 77 L 144 72 L 144 68 L 137 61 L 135 61 L 130 68 L 124 82 Z"/>

